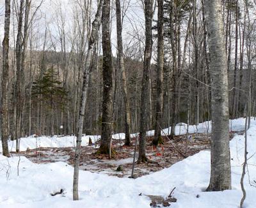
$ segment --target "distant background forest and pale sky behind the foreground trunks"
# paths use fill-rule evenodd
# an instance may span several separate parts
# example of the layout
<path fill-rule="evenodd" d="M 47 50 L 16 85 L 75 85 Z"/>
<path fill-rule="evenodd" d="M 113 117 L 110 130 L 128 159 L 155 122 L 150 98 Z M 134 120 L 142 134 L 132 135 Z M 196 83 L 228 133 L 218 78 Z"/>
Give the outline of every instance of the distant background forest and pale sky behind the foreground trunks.
<path fill-rule="evenodd" d="M 31 134 L 74 134 L 83 83 L 88 31 L 95 13 L 92 1 L 70 1 L 70 17 L 63 1 L 12 1 L 10 72 L 8 78 L 8 125 L 12 139 Z M 56 13 L 47 22 L 44 4 Z M 114 3 L 113 3 L 114 4 Z M 125 132 L 125 103 L 122 72 L 116 52 L 115 13 L 111 4 L 113 28 L 113 132 Z M 163 118 L 161 127 L 185 122 L 198 124 L 211 120 L 209 52 L 206 44 L 204 1 L 177 1 L 172 7 L 164 1 Z M 124 26 L 124 68 L 131 112 L 131 131 L 140 123 L 143 44 L 145 29 L 133 11 L 143 12 L 141 1 L 122 1 Z M 156 3 L 154 4 L 157 12 Z M 244 116 L 246 93 L 252 92 L 255 111 L 255 10 L 253 1 L 223 1 L 225 50 L 228 60 L 230 118 Z M 94 9 L 93 9 L 94 8 Z M 3 10 L 2 10 L 3 11 Z M 3 13 L 3 12 L 2 12 Z M 24 17 L 20 19 L 20 15 Z M 131 19 L 133 17 L 133 19 Z M 157 26 L 153 16 L 153 47 L 150 70 L 150 106 L 147 129 L 154 128 L 157 92 Z M 45 20 L 44 20 L 45 18 Z M 45 21 L 45 22 L 44 22 Z M 44 22 L 44 24 L 42 24 Z M 52 30 L 54 28 L 55 30 Z M 102 120 L 102 49 L 100 30 L 93 47 L 92 72 L 88 86 L 84 133 L 100 134 Z M 18 50 L 19 48 L 19 50 Z M 19 94 L 19 95 L 18 95 Z M 18 98 L 18 99 L 17 99 Z M 17 122 L 19 120 L 19 122 Z M 63 125 L 63 129 L 60 126 Z M 17 132 L 15 132 L 17 131 Z"/>

